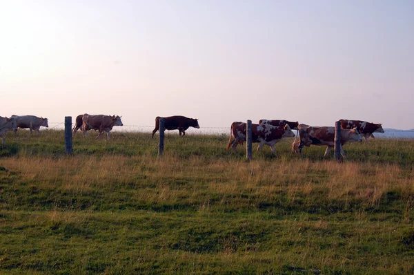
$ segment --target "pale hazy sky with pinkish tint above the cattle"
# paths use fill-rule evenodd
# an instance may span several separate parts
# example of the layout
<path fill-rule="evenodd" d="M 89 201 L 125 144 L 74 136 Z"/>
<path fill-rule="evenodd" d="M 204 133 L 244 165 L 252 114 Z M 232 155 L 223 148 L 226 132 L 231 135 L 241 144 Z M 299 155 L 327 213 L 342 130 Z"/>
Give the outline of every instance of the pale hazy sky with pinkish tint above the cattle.
<path fill-rule="evenodd" d="M 0 0 L 0 115 L 414 129 L 414 1 Z"/>

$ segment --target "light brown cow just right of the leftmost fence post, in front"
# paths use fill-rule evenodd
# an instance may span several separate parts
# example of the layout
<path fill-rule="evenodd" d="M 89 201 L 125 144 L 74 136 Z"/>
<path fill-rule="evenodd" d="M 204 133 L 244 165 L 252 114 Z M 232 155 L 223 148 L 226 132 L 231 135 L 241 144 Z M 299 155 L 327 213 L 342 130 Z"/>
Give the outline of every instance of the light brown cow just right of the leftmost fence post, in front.
<path fill-rule="evenodd" d="M 82 117 L 83 137 L 86 137 L 88 130 L 98 130 L 99 134 L 96 138 L 99 138 L 103 131 L 106 131 L 106 137 L 109 139 L 109 131 L 113 126 L 124 126 L 119 115 L 88 115 L 86 113 Z"/>

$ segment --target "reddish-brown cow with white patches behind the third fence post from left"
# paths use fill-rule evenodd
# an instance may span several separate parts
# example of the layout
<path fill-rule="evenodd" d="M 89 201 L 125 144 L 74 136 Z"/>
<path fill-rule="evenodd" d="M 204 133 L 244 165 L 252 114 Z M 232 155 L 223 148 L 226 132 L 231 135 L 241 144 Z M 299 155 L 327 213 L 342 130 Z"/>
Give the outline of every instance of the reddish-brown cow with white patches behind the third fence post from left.
<path fill-rule="evenodd" d="M 230 139 L 228 140 L 227 151 L 230 146 L 236 151 L 237 144 L 243 144 L 246 141 L 246 123 L 233 122 L 230 126 Z M 233 140 L 232 140 L 233 134 Z M 295 133 L 290 130 L 288 124 L 283 127 L 277 127 L 270 124 L 252 124 L 252 142 L 259 142 L 257 151 L 263 145 L 270 146 L 272 153 L 276 155 L 275 144 L 282 138 L 293 138 Z"/>

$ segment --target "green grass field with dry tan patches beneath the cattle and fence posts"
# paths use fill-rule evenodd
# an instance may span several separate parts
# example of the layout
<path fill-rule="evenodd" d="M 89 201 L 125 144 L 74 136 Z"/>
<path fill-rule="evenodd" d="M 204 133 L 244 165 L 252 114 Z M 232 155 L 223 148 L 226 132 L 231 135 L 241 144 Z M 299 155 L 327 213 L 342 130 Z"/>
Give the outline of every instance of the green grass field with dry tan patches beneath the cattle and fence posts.
<path fill-rule="evenodd" d="M 227 135 L 6 134 L 0 274 L 413 274 L 414 140 L 247 162 Z M 254 146 L 254 148 L 257 145 Z"/>

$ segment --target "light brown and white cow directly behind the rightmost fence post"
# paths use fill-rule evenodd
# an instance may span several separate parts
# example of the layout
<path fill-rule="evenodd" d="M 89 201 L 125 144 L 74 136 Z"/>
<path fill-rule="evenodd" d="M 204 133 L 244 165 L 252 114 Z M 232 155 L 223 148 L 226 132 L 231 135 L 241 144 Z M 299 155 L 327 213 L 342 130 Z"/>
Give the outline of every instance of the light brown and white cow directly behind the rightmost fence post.
<path fill-rule="evenodd" d="M 299 124 L 297 128 L 299 129 L 299 140 L 293 142 L 293 151 L 295 151 L 295 153 L 302 154 L 302 148 L 304 146 L 327 146 L 324 153 L 325 158 L 335 145 L 335 127 L 314 127 L 306 124 Z M 342 146 L 344 146 L 346 142 L 362 142 L 362 135 L 359 134 L 356 128 L 341 129 L 340 150 L 342 158 L 346 158 L 344 149 L 342 149 Z"/>

